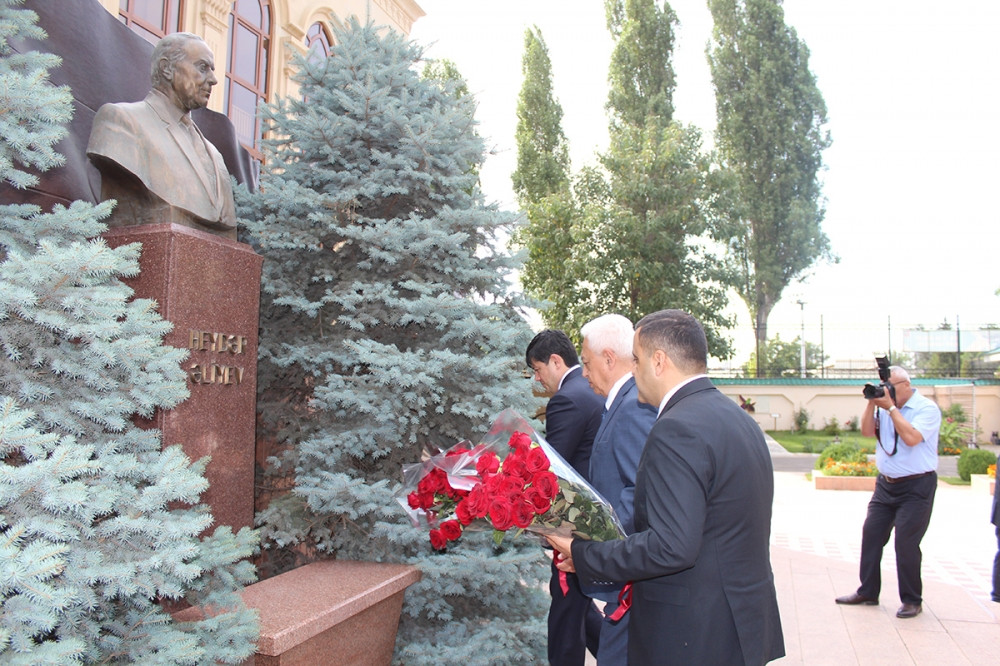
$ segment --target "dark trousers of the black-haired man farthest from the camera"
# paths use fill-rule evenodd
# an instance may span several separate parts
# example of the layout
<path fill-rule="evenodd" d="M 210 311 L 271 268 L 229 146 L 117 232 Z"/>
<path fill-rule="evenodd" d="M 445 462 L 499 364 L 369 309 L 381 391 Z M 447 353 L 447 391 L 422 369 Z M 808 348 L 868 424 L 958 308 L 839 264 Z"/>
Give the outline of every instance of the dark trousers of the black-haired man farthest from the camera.
<path fill-rule="evenodd" d="M 576 574 L 566 574 L 569 592 L 563 596 L 559 570 L 552 565 L 549 593 L 549 664 L 583 666 L 586 651 L 597 655 L 601 632 L 601 613 L 593 600 L 580 591 Z"/>

